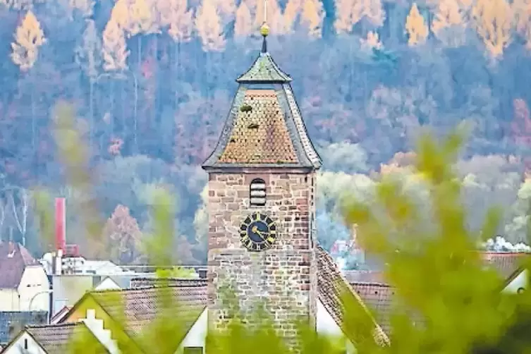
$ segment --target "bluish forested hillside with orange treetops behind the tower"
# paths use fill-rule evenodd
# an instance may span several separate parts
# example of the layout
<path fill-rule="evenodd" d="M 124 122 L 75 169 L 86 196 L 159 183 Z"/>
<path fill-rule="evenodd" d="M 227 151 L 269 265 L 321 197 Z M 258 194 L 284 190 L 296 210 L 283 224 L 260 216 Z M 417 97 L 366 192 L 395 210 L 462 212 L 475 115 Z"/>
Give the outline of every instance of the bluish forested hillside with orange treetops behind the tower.
<path fill-rule="evenodd" d="M 46 250 L 30 189 L 42 185 L 68 198 L 68 243 L 83 250 L 75 205 L 93 196 L 63 183 L 51 129 L 66 99 L 91 149 L 102 217 L 118 207 L 102 231 L 109 249 L 123 235 L 147 237 L 150 196 L 163 184 L 178 196 L 176 255 L 205 262 L 199 164 L 260 49 L 263 12 L 260 0 L 0 0 L 1 237 Z M 335 216 L 340 193 L 370 197 L 380 173 L 399 171 L 422 197 L 407 169 L 415 137 L 459 124 L 469 132 L 457 167 L 470 225 L 497 203 L 500 232 L 525 237 L 529 0 L 267 0 L 267 21 L 269 51 L 293 77 L 324 159 L 325 246 L 348 237 Z"/>

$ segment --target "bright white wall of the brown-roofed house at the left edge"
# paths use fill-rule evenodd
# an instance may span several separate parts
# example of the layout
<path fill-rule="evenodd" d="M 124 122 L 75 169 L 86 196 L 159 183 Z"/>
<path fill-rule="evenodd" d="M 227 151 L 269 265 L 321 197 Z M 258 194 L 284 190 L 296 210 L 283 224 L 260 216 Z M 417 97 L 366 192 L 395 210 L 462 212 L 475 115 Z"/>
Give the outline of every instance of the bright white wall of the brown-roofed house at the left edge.
<path fill-rule="evenodd" d="M 41 264 L 26 267 L 18 286 L 20 311 L 49 311 L 50 294 L 46 293 L 49 288 L 48 277 Z"/>

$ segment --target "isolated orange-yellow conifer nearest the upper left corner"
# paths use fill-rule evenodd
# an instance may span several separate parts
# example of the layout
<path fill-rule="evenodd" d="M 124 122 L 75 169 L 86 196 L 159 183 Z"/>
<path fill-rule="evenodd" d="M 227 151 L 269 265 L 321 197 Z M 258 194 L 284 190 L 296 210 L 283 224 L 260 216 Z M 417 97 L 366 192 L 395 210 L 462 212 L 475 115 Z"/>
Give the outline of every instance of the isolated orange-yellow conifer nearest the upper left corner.
<path fill-rule="evenodd" d="M 28 71 L 35 65 L 39 47 L 45 42 L 39 21 L 32 11 L 28 11 L 16 30 L 15 42 L 11 43 L 11 49 L 13 49 L 11 59 L 18 65 L 20 71 Z"/>

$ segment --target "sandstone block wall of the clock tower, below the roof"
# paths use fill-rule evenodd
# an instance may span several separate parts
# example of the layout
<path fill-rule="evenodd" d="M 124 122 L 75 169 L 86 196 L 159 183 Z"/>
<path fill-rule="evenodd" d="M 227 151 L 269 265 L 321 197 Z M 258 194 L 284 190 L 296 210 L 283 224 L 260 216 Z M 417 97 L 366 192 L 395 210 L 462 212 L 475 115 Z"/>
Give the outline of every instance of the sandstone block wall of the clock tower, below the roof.
<path fill-rule="evenodd" d="M 267 185 L 264 207 L 250 206 L 250 182 Z M 315 173 L 210 173 L 209 175 L 209 321 L 222 329 L 231 318 L 221 303 L 224 285 L 236 291 L 244 312 L 267 300 L 275 326 L 287 339 L 291 321 L 303 316 L 315 326 L 317 261 L 315 258 Z M 260 211 L 276 221 L 277 239 L 270 250 L 250 252 L 240 243 L 239 228 L 248 214 Z"/>

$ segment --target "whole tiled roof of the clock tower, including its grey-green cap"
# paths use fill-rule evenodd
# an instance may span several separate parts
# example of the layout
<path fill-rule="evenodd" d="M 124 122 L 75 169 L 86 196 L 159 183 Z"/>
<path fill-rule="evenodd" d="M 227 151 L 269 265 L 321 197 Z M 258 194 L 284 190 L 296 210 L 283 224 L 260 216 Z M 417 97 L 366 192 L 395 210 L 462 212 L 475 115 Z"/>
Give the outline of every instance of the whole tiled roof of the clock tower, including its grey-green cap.
<path fill-rule="evenodd" d="M 308 136 L 291 78 L 267 52 L 265 37 L 260 56 L 237 81 L 218 144 L 203 168 L 319 169 L 321 158 Z"/>

